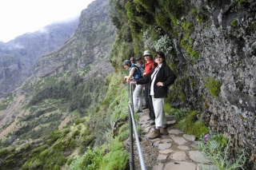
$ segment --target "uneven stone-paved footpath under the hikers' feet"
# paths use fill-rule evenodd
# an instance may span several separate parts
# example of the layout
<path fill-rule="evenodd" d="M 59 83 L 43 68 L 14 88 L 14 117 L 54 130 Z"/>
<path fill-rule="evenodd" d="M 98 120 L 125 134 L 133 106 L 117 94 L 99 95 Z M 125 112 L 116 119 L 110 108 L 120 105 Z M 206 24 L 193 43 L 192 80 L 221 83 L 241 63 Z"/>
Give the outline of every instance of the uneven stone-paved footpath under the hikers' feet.
<path fill-rule="evenodd" d="M 149 140 L 147 136 L 154 129 L 154 125 L 150 125 L 146 121 L 148 117 L 148 109 L 143 110 L 143 113 L 138 113 L 140 118 L 138 124 L 142 126 L 142 140 Z M 211 165 L 207 165 L 210 160 L 207 160 L 202 152 L 197 150 L 195 136 L 187 135 L 186 133 L 174 127 L 176 123 L 174 117 L 166 114 L 168 123 L 168 136 L 150 140 L 151 144 L 148 147 L 158 148 L 158 158 L 155 164 L 150 168 L 153 170 L 202 170 L 202 167 L 212 170 L 217 170 Z M 142 148 L 142 152 L 143 152 Z M 144 158 L 145 159 L 145 158 Z M 199 165 L 201 164 L 201 165 Z M 147 166 L 146 166 L 147 167 Z M 138 167 L 136 168 L 138 169 Z M 149 169 L 147 167 L 147 169 Z"/>

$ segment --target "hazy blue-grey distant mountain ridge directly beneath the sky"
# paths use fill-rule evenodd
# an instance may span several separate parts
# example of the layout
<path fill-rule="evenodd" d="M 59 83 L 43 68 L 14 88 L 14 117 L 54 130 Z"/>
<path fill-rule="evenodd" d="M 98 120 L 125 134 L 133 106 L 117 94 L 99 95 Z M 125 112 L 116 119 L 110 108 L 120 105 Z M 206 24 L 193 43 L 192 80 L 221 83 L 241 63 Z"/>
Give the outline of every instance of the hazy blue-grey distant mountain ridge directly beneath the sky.
<path fill-rule="evenodd" d="M 0 97 L 22 85 L 38 58 L 60 48 L 77 27 L 78 18 L 74 18 L 69 22 L 54 22 L 34 33 L 22 34 L 10 42 L 0 42 Z"/>

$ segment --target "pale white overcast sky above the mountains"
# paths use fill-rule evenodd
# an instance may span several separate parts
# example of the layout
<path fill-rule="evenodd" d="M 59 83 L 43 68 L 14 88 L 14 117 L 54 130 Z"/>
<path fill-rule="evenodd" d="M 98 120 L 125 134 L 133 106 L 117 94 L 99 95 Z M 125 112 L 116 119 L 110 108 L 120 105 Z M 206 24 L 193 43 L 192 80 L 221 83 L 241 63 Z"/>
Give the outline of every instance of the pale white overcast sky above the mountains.
<path fill-rule="evenodd" d="M 0 0 L 0 41 L 80 16 L 94 0 Z"/>

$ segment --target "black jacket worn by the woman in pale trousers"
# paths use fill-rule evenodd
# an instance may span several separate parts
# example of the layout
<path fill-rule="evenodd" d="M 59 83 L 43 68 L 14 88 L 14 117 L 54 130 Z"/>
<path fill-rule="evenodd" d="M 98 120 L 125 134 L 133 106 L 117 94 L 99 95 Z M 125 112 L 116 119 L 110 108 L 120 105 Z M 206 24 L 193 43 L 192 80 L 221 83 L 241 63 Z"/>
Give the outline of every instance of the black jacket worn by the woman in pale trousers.
<path fill-rule="evenodd" d="M 154 68 L 155 69 L 155 68 Z M 154 73 L 154 69 L 150 73 L 139 79 L 137 82 L 138 85 L 143 85 L 149 83 L 149 95 L 150 95 L 150 86 L 151 86 L 151 74 Z M 154 97 L 155 98 L 164 98 L 167 97 L 168 86 L 174 84 L 175 79 L 177 78 L 173 70 L 170 69 L 166 63 L 162 63 L 162 67 L 159 69 L 157 75 L 155 75 L 154 81 Z M 163 82 L 163 86 L 158 86 L 158 82 Z"/>

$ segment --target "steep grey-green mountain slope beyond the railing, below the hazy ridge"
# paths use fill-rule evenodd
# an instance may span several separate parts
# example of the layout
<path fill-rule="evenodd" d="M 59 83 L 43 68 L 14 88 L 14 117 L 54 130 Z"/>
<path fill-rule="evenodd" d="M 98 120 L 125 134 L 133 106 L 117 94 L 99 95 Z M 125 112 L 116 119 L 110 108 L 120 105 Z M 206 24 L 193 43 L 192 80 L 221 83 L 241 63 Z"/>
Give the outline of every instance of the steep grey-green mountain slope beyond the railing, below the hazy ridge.
<path fill-rule="evenodd" d="M 34 136 L 35 129 L 44 136 L 58 128 L 66 117 L 74 114 L 70 120 L 74 121 L 75 117 L 85 115 L 85 109 L 102 100 L 106 93 L 105 77 L 114 72 L 108 56 L 115 34 L 107 7 L 106 1 L 91 3 L 82 11 L 74 36 L 60 49 L 40 57 L 30 79 L 16 90 L 13 103 L 19 106 L 9 105 L 1 111 L 0 125 L 5 128 L 0 136 L 12 132 L 15 138 L 35 139 L 39 137 Z M 14 119 L 21 116 L 19 126 Z M 9 125 L 16 125 L 16 129 L 6 128 Z M 36 128 L 38 125 L 41 128 Z"/>

